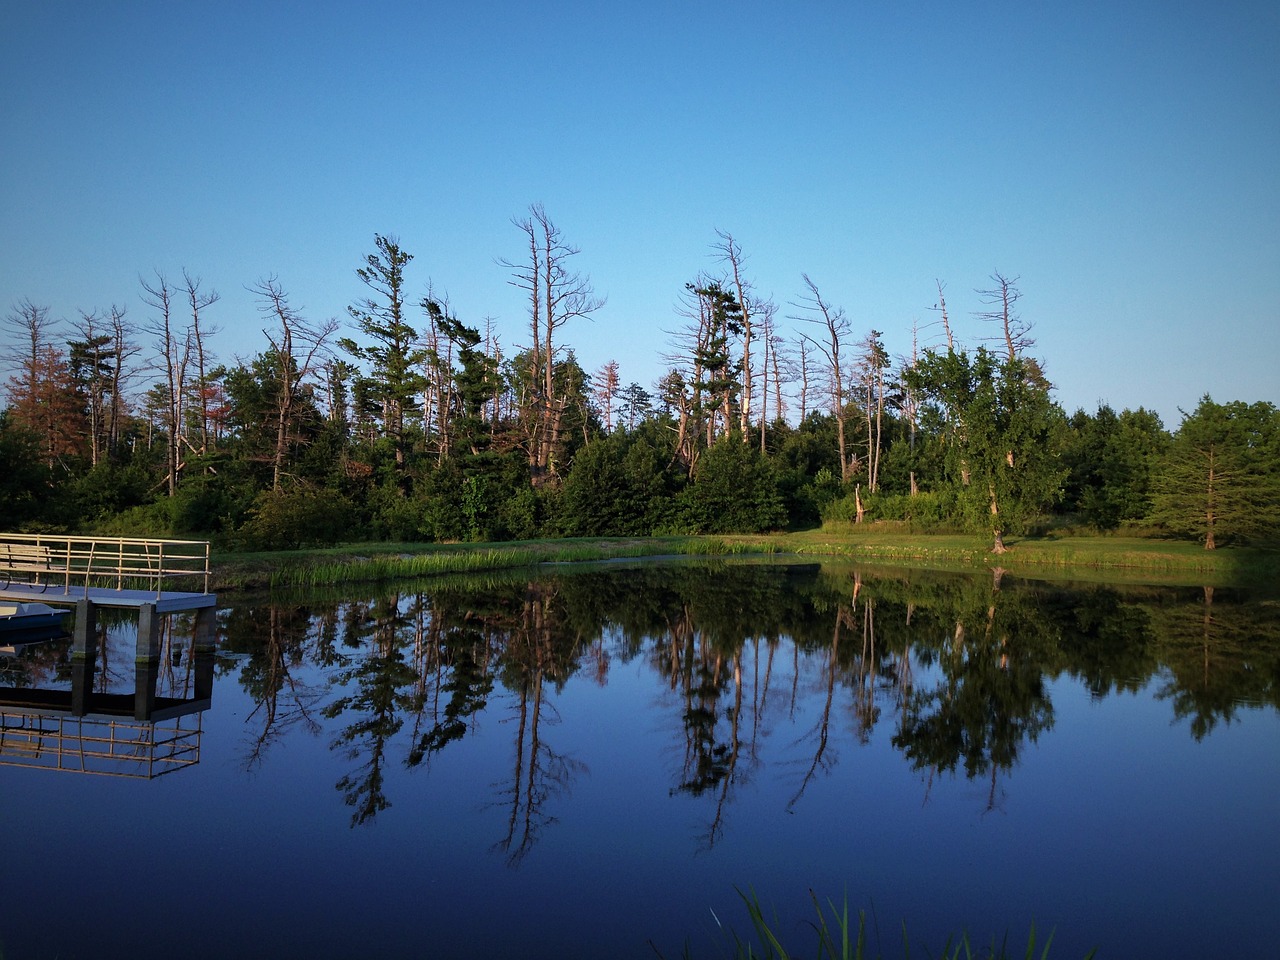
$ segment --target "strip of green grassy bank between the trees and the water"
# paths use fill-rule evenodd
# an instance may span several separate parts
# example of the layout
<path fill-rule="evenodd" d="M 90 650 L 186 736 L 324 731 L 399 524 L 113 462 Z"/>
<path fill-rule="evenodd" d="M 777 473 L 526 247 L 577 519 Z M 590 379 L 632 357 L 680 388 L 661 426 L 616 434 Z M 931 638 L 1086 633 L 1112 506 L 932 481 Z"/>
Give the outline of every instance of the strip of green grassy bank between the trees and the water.
<path fill-rule="evenodd" d="M 216 552 L 219 591 L 379 582 L 438 573 L 512 570 L 645 557 L 776 556 L 1009 573 L 1050 580 L 1106 580 L 1229 586 L 1280 580 L 1280 552 L 1119 536 L 1010 538 L 996 556 L 975 538 L 945 534 L 820 530 L 764 535 L 586 538 L 489 544 L 364 543 L 271 553 Z"/>

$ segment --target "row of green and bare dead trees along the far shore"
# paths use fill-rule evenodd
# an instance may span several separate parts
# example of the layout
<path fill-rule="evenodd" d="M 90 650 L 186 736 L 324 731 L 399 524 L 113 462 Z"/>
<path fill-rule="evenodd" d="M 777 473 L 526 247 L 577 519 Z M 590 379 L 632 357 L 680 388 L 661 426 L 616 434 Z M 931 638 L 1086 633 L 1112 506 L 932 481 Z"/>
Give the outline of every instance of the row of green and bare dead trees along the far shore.
<path fill-rule="evenodd" d="M 1068 415 L 1016 278 L 978 291 L 987 335 L 891 357 L 803 275 L 780 307 L 739 242 L 678 292 L 664 372 L 588 372 L 566 326 L 604 300 L 540 205 L 503 260 L 527 297 L 507 347 L 376 236 L 347 323 L 306 317 L 276 276 L 248 289 L 264 347 L 216 353 L 219 294 L 140 278 L 146 316 L 5 317 L 0 497 L 9 529 L 214 536 L 279 549 L 343 540 L 755 532 L 896 521 L 1006 534 L 1076 525 L 1224 543 L 1280 536 L 1280 411 L 1203 397 L 1176 429 L 1144 408 Z M 787 335 L 782 310 L 799 333 Z"/>

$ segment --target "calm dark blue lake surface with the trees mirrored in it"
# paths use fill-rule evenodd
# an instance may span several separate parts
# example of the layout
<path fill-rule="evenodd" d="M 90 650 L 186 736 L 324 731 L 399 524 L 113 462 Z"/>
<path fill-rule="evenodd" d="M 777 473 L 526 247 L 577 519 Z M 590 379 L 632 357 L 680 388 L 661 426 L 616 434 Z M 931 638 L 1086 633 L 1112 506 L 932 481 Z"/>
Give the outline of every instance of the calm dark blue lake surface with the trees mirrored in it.
<path fill-rule="evenodd" d="M 206 709 L 4 713 L 5 960 L 721 957 L 739 890 L 804 955 L 810 890 L 886 956 L 1280 945 L 1276 595 L 648 562 L 221 599 L 154 677 Z M 133 636 L 97 703 L 151 680 Z M 69 641 L 0 675 L 65 696 Z"/>

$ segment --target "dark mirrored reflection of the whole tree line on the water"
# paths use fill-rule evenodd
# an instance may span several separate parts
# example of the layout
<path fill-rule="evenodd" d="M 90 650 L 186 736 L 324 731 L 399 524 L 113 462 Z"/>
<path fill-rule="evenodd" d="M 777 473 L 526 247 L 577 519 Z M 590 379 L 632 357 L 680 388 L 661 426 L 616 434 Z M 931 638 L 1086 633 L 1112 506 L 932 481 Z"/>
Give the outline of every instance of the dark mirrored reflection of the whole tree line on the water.
<path fill-rule="evenodd" d="M 925 799 L 940 776 L 963 773 L 988 781 L 992 809 L 1001 780 L 1052 727 L 1059 676 L 1093 696 L 1155 682 L 1202 737 L 1242 701 L 1277 704 L 1277 620 L 1274 602 L 1240 591 L 699 562 L 246 605 L 223 634 L 247 654 L 239 680 L 257 704 L 247 763 L 262 763 L 288 730 L 326 726 L 355 764 L 338 782 L 352 826 L 390 805 L 389 763 L 426 769 L 500 712 L 511 759 L 495 785 L 495 849 L 517 865 L 586 772 L 548 737 L 561 692 L 579 678 L 604 685 L 637 658 L 667 691 L 668 795 L 704 810 L 708 849 L 726 832 L 735 791 L 771 758 L 795 777 L 794 809 L 886 717 Z M 319 668 L 310 684 L 298 678 L 305 667 Z M 771 740 L 795 724 L 799 737 Z"/>

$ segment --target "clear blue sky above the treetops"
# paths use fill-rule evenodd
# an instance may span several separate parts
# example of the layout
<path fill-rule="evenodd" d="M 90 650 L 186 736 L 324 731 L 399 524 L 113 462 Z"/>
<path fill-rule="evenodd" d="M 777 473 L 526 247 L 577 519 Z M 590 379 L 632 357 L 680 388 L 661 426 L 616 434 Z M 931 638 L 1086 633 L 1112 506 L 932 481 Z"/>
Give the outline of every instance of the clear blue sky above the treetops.
<path fill-rule="evenodd" d="M 716 229 L 780 315 L 801 273 L 891 353 L 947 284 L 1020 278 L 1071 411 L 1280 402 L 1280 4 L 5 3 L 0 311 L 216 288 L 223 360 L 278 275 L 346 319 L 375 233 L 508 348 L 543 202 L 608 297 L 590 372 L 662 372 Z M 936 328 L 923 329 L 925 340 Z"/>

